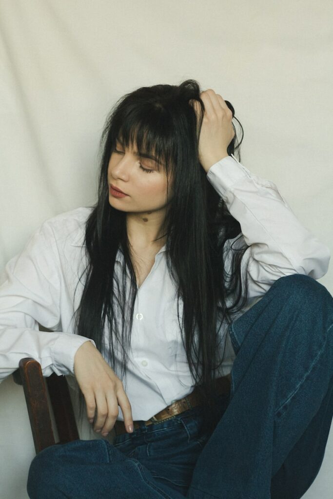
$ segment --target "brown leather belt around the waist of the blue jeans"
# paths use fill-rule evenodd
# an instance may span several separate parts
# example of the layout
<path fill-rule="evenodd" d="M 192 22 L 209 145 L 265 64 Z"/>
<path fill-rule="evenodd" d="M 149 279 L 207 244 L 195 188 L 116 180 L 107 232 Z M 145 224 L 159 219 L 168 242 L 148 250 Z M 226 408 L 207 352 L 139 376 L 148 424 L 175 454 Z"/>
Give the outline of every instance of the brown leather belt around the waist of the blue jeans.
<path fill-rule="evenodd" d="M 230 383 L 231 383 L 230 374 L 227 374 L 227 376 L 223 376 L 222 378 L 218 378 L 216 381 L 217 381 L 217 390 L 216 390 L 217 395 L 227 394 L 230 392 Z M 200 395 L 198 389 L 195 387 L 193 392 L 190 393 L 190 395 L 187 395 L 187 397 L 177 400 L 173 404 L 169 405 L 162 411 L 155 414 L 155 416 L 152 416 L 148 421 L 144 421 L 144 424 L 148 426 L 154 423 L 159 423 L 167 419 L 171 419 L 177 414 L 181 414 L 184 411 L 193 409 L 194 407 L 201 405 L 202 403 L 203 403 L 203 398 Z M 133 424 L 134 424 L 134 430 L 140 428 L 139 422 L 133 421 Z M 121 435 L 122 433 L 128 433 L 123 421 L 116 421 L 114 429 L 116 436 Z"/>

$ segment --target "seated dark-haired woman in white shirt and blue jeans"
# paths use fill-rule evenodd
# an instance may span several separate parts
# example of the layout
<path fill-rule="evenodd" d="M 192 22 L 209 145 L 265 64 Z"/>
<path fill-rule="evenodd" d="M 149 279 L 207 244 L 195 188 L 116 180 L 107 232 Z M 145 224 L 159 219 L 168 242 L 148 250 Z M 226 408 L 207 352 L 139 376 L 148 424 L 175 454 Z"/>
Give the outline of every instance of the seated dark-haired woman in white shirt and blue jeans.
<path fill-rule="evenodd" d="M 115 431 L 39 453 L 30 498 L 300 498 L 317 476 L 330 252 L 235 158 L 233 117 L 195 80 L 125 95 L 96 205 L 7 264 L 1 376 L 24 356 L 75 375 L 94 430 Z"/>

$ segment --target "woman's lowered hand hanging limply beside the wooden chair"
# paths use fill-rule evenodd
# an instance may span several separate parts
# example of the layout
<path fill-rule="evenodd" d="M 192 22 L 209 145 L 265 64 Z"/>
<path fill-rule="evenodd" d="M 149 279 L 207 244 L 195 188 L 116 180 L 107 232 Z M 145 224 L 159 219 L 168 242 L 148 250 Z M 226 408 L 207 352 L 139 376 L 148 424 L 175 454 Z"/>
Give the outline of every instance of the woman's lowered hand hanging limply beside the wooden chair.
<path fill-rule="evenodd" d="M 131 404 L 121 380 L 116 376 L 101 353 L 91 343 L 85 341 L 74 356 L 74 374 L 84 395 L 87 417 L 93 422 L 97 409 L 94 431 L 105 437 L 112 430 L 121 407 L 124 424 L 129 433 L 133 429 Z"/>

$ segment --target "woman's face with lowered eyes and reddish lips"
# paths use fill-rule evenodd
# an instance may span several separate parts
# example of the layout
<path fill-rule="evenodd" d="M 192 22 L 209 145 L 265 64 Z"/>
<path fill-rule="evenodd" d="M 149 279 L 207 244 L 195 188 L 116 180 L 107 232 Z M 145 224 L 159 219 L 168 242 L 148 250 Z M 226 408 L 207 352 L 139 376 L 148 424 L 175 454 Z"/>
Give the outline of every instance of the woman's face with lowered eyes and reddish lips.
<path fill-rule="evenodd" d="M 163 211 L 167 199 L 167 176 L 162 165 L 139 157 L 135 149 L 124 149 L 117 140 L 108 165 L 109 203 L 117 210 L 130 213 Z M 117 197 L 111 184 L 126 194 Z"/>

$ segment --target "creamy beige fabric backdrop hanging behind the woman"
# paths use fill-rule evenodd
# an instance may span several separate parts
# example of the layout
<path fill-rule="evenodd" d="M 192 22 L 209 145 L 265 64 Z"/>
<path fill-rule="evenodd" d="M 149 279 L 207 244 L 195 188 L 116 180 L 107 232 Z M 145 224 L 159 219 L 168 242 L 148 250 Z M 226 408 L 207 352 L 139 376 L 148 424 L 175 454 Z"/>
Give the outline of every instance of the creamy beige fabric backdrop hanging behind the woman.
<path fill-rule="evenodd" d="M 329 0 L 0 0 L 0 268 L 42 221 L 94 203 L 115 101 L 187 78 L 233 104 L 242 163 L 333 250 L 332 18 Z M 319 281 L 333 293 L 332 265 Z M 7 378 L 0 399 L 0 499 L 25 499 L 22 388 Z M 332 433 L 307 499 L 332 499 Z"/>

